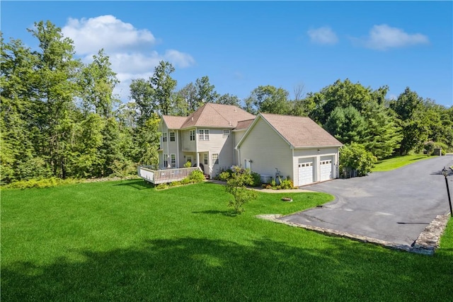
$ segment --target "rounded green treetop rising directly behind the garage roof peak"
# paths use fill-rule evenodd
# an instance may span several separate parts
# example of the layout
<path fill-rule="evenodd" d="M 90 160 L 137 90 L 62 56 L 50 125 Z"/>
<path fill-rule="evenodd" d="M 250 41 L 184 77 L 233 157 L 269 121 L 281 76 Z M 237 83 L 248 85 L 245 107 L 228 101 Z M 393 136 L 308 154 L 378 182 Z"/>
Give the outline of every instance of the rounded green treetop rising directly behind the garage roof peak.
<path fill-rule="evenodd" d="M 288 100 L 289 93 L 283 88 L 274 86 L 258 86 L 246 98 L 246 110 L 252 114 L 258 112 L 287 114 L 292 105 Z"/>

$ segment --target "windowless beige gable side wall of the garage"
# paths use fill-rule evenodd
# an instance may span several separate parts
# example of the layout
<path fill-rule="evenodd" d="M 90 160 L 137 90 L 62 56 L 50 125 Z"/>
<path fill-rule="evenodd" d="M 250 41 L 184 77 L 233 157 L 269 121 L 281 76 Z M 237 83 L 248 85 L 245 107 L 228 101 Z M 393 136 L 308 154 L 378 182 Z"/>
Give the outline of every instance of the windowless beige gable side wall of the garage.
<path fill-rule="evenodd" d="M 253 172 L 275 178 L 277 168 L 282 178 L 289 175 L 294 180 L 292 149 L 263 119 L 256 122 L 239 148 L 241 166 L 245 160 L 251 160 Z"/>

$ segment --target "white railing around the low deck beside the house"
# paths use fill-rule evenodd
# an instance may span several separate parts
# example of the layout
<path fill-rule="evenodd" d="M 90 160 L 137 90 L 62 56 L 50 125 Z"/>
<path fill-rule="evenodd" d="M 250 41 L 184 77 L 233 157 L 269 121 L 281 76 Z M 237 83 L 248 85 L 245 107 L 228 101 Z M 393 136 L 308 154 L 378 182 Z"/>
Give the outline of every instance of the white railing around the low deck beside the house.
<path fill-rule="evenodd" d="M 150 165 L 140 165 L 138 168 L 138 174 L 139 177 L 143 178 L 144 180 L 154 183 L 154 185 L 158 185 L 159 183 L 183 180 L 195 170 L 201 171 L 199 167 L 151 170 Z"/>

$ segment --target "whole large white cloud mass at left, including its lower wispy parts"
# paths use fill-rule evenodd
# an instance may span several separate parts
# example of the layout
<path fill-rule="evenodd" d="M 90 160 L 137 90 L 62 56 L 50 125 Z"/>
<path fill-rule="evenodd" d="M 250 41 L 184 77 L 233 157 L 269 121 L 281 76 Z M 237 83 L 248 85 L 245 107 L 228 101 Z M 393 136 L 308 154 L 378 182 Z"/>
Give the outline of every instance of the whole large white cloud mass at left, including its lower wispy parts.
<path fill-rule="evenodd" d="M 127 100 L 132 79 L 149 79 L 160 61 L 170 62 L 176 68 L 187 68 L 195 59 L 185 52 L 166 50 L 159 54 L 152 50 L 156 38 L 147 29 L 137 29 L 130 23 L 122 22 L 115 16 L 95 18 L 69 18 L 62 28 L 65 37 L 74 41 L 76 54 L 86 64 L 92 62 L 93 54 L 104 49 L 111 68 L 120 83 L 113 91 L 121 100 Z"/>

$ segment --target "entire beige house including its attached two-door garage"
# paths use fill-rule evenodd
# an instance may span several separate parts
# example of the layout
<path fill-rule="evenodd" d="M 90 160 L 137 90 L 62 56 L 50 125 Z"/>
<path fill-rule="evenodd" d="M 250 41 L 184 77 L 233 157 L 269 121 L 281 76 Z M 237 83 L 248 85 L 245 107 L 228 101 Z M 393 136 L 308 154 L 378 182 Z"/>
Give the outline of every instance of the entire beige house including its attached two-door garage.
<path fill-rule="evenodd" d="M 188 117 L 164 115 L 159 168 L 188 161 L 215 177 L 231 165 L 260 173 L 264 180 L 289 176 L 294 185 L 338 178 L 340 141 L 309 117 L 259 113 L 207 103 Z"/>

